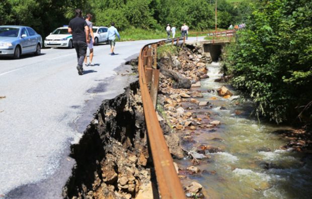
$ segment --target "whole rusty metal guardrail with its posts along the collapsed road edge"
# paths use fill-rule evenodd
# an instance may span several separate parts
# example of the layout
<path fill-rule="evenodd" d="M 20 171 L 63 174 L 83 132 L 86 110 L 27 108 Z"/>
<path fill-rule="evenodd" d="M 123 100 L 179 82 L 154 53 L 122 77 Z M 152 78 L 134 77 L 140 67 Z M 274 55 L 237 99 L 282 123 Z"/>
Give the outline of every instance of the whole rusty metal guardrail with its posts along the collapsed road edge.
<path fill-rule="evenodd" d="M 185 198 L 180 179 L 173 164 L 155 107 L 160 69 L 157 68 L 157 47 L 172 43 L 185 43 L 185 38 L 174 38 L 145 45 L 139 54 L 138 72 L 147 136 L 162 198 Z M 149 88 L 149 89 L 148 89 Z"/>

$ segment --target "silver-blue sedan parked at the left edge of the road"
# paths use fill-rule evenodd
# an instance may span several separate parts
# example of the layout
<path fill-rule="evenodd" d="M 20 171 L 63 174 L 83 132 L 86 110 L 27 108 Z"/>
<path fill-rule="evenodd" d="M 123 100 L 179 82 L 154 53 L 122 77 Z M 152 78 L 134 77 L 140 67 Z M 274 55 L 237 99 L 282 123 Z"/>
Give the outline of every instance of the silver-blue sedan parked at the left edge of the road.
<path fill-rule="evenodd" d="M 0 26 L 0 56 L 40 55 L 42 37 L 27 26 Z"/>

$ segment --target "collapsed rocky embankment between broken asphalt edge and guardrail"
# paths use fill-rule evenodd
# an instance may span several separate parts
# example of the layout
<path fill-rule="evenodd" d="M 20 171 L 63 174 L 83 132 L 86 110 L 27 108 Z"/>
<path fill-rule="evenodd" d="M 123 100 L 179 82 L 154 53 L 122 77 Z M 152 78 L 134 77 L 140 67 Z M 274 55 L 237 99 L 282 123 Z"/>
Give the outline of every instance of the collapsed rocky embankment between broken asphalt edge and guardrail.
<path fill-rule="evenodd" d="M 152 196 L 152 162 L 138 87 L 138 82 L 131 83 L 124 93 L 103 101 L 79 144 L 71 146 L 76 165 L 64 198 Z"/>

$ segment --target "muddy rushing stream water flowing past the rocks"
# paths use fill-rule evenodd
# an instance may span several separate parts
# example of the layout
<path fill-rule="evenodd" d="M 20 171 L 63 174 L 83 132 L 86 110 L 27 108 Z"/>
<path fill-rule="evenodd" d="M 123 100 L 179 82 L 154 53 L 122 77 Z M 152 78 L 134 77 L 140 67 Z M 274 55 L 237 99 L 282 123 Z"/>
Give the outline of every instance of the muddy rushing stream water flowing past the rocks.
<path fill-rule="evenodd" d="M 223 83 L 219 78 L 220 67 L 212 63 L 208 67 L 209 79 L 201 82 L 201 90 L 217 89 Z M 230 88 L 229 85 L 227 85 Z M 192 149 L 200 144 L 219 147 L 223 152 L 208 153 L 209 159 L 197 165 L 201 175 L 188 176 L 187 181 L 198 181 L 203 193 L 209 198 L 311 198 L 311 156 L 291 150 L 281 150 L 286 140 L 274 133 L 287 126 L 258 124 L 250 117 L 250 103 L 235 105 L 233 96 L 222 98 L 216 92 L 204 93 L 201 100 L 209 100 L 213 108 L 208 109 L 211 120 L 222 123 L 214 130 L 201 130 L 194 136 L 195 143 L 184 147 Z M 226 110 L 220 110 L 220 107 Z M 220 139 L 214 139 L 220 138 Z M 213 140 L 214 139 L 214 140 Z M 178 162 L 182 167 L 191 165 L 189 159 Z"/>

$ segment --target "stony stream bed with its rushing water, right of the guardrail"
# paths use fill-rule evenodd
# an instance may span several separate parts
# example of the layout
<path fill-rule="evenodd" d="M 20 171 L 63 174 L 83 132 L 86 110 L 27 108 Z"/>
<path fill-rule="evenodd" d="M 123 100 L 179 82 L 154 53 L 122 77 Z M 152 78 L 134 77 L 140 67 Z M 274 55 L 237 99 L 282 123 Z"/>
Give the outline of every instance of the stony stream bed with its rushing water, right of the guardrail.
<path fill-rule="evenodd" d="M 236 101 L 239 93 L 210 62 L 194 46 L 159 59 L 158 112 L 165 136 L 180 138 L 172 155 L 187 196 L 306 197 L 310 132 L 259 124 L 250 117 L 252 103 Z M 217 91 L 223 85 L 226 94 Z"/>

